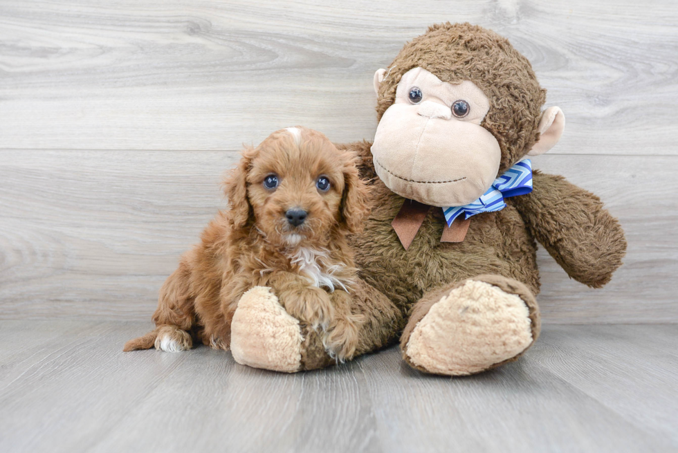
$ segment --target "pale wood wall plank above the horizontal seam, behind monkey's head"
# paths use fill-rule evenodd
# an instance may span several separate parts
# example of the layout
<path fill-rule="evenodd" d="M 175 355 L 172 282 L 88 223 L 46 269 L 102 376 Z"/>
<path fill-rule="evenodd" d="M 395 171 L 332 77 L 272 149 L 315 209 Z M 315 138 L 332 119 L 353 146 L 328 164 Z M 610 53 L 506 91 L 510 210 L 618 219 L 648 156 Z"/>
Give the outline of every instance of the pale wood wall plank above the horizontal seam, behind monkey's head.
<path fill-rule="evenodd" d="M 0 148 L 237 149 L 293 124 L 370 139 L 372 74 L 441 21 L 531 60 L 567 115 L 552 152 L 678 154 L 670 0 L 6 0 Z"/>

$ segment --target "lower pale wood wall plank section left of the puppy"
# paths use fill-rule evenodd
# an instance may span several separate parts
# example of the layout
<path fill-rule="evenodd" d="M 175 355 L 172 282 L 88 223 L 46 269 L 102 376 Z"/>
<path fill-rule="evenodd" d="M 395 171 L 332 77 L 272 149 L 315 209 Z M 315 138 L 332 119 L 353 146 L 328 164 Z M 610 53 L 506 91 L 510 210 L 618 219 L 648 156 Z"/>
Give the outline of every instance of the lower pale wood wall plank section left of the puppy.
<path fill-rule="evenodd" d="M 145 319 L 236 153 L 0 151 L 0 312 Z M 140 312 L 144 317 L 140 318 Z"/>

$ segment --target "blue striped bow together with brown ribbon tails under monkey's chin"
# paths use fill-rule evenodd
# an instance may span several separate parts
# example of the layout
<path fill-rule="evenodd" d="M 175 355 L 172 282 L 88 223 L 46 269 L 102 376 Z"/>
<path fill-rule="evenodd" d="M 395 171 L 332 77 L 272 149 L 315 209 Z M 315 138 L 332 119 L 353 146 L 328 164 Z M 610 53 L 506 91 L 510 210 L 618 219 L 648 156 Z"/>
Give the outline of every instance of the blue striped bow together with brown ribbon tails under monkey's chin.
<path fill-rule="evenodd" d="M 526 159 L 513 165 L 506 173 L 495 179 L 487 192 L 473 203 L 464 206 L 443 207 L 447 227 L 443 228 L 441 242 L 464 241 L 470 223 L 469 217 L 481 212 L 500 211 L 506 207 L 504 198 L 529 194 L 530 192 L 532 192 L 532 163 L 529 159 Z M 416 232 L 419 231 L 419 227 L 426 218 L 428 210 L 430 210 L 430 205 L 419 203 L 419 201 L 407 199 L 403 201 L 403 206 L 391 225 L 405 250 L 410 247 Z M 452 226 L 452 222 L 461 214 L 464 214 L 464 217 Z"/>

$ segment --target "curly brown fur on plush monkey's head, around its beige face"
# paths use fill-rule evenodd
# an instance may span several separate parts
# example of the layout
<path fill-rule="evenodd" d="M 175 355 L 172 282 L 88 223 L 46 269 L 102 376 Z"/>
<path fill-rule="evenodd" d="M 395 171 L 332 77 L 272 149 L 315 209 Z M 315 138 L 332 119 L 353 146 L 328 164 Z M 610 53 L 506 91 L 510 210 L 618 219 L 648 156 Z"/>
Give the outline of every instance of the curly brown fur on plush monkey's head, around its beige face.
<path fill-rule="evenodd" d="M 508 39 L 471 24 L 431 26 L 427 33 L 405 44 L 390 64 L 390 73 L 379 87 L 379 120 L 393 104 L 401 77 L 416 67 L 443 82 L 470 80 L 490 99 L 490 111 L 482 125 L 502 149 L 500 174 L 537 141 L 546 90 L 539 86 L 530 62 Z"/>

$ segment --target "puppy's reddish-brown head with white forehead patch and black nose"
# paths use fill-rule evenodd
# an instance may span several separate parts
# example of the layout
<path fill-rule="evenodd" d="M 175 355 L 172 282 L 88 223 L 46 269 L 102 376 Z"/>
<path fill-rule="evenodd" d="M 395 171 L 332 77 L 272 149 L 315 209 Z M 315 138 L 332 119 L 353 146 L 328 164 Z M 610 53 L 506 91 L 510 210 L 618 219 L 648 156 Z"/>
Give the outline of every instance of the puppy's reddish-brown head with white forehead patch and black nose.
<path fill-rule="evenodd" d="M 367 189 L 356 157 L 318 131 L 272 133 L 243 151 L 225 185 L 233 227 L 254 226 L 277 246 L 312 245 L 363 225 Z"/>

